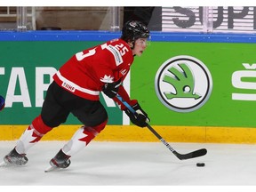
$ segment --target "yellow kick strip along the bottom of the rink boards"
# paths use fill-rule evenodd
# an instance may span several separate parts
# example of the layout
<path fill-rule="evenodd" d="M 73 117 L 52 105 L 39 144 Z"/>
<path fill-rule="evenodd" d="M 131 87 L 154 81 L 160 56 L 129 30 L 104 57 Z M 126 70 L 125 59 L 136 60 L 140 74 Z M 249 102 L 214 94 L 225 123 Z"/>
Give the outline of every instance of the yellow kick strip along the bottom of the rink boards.
<path fill-rule="evenodd" d="M 0 140 L 18 140 L 28 125 L 0 125 Z M 79 125 L 60 125 L 42 140 L 70 140 Z M 157 126 L 152 127 L 166 141 L 207 143 L 256 143 L 256 129 L 244 127 Z M 97 141 L 158 141 L 147 127 L 107 125 Z"/>

